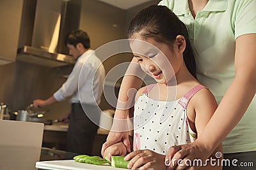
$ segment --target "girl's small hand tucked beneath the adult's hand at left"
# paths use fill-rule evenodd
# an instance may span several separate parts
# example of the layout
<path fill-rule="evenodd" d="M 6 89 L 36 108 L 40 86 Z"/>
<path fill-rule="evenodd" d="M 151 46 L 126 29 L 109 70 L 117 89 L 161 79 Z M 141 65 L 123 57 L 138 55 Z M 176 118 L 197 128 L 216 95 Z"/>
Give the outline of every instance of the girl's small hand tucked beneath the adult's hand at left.
<path fill-rule="evenodd" d="M 114 145 L 109 146 L 106 148 L 103 157 L 108 157 L 109 160 L 111 160 L 111 156 L 121 156 L 124 157 L 126 155 L 127 151 L 125 148 L 124 143 L 119 142 Z"/>

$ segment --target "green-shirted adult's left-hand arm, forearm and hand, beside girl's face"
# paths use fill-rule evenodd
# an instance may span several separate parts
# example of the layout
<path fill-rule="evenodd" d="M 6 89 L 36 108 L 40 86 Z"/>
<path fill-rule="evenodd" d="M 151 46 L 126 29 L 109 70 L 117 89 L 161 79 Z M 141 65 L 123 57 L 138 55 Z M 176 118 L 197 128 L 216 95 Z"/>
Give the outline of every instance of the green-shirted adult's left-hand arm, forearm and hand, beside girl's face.
<path fill-rule="evenodd" d="M 113 125 L 111 131 L 108 134 L 107 141 L 102 145 L 102 155 L 104 155 L 104 151 L 106 150 L 106 148 L 108 148 L 108 146 L 118 143 L 119 141 L 123 141 L 124 145 L 127 148 L 127 151 L 131 152 L 131 144 L 129 142 L 127 132 L 129 130 L 129 127 L 124 120 L 126 120 L 129 114 L 129 109 L 132 107 L 134 96 L 137 90 L 140 89 L 142 84 L 142 80 L 139 77 L 143 76 L 144 72 L 141 70 L 140 64 L 134 64 L 136 62 L 137 59 L 133 57 L 131 64 L 129 65 L 122 80 L 122 84 L 118 94 L 118 102 L 116 104 Z"/>

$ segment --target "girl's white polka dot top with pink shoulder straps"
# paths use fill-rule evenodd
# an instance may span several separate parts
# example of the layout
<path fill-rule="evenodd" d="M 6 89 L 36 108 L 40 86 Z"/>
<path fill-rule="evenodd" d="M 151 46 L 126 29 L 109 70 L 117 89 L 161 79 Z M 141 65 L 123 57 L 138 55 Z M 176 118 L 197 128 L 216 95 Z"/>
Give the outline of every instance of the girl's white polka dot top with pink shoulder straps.
<path fill-rule="evenodd" d="M 155 101 L 147 97 L 156 84 L 148 85 L 134 105 L 134 150 L 149 149 L 165 155 L 170 146 L 191 143 L 196 133 L 186 115 L 189 99 L 203 85 L 197 85 L 175 101 Z"/>

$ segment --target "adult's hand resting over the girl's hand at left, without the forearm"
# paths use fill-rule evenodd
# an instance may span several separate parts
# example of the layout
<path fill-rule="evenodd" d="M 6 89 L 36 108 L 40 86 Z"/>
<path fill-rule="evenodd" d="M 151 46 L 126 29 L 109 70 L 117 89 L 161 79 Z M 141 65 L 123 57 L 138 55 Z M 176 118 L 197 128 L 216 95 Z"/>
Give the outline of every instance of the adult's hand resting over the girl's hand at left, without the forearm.
<path fill-rule="evenodd" d="M 111 147 L 111 145 L 114 145 L 116 143 L 122 142 L 126 148 L 127 152 L 131 152 L 131 145 L 129 141 L 129 134 L 128 132 L 112 132 L 110 131 L 108 134 L 107 141 L 103 143 L 101 148 L 101 155 L 106 155 L 106 150 L 108 147 Z"/>

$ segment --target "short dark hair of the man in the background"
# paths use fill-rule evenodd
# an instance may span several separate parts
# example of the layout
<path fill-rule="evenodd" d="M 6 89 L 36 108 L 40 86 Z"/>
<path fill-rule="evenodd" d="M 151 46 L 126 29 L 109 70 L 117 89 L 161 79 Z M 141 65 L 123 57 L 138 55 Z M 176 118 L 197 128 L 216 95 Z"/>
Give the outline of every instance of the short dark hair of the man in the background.
<path fill-rule="evenodd" d="M 74 45 L 82 43 L 84 48 L 90 48 L 90 38 L 88 34 L 82 30 L 71 31 L 65 39 L 65 44 Z"/>

